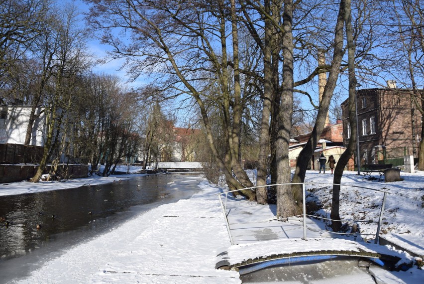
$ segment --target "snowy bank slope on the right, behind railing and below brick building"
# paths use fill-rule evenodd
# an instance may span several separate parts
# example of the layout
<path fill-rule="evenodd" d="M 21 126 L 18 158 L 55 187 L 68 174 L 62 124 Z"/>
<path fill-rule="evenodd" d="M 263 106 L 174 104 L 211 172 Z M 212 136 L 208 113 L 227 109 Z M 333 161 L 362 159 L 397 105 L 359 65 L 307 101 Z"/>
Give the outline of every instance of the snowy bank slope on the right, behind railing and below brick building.
<path fill-rule="evenodd" d="M 377 177 L 378 173 L 374 177 Z M 329 218 L 331 208 L 332 175 L 309 171 L 305 182 L 309 190 L 308 199 L 320 203 L 324 209 L 317 213 Z M 381 236 L 386 239 L 404 240 L 408 247 L 418 255 L 424 255 L 424 172 L 401 172 L 402 181 L 385 183 L 378 179 L 365 179 L 354 172 L 343 174 L 340 190 L 340 218 L 355 219 L 362 234 L 375 234 L 376 224 L 381 211 L 383 193 L 368 188 L 388 192 L 386 196 Z M 366 189 L 360 187 L 367 187 Z M 351 223 L 352 224 L 352 223 Z M 364 238 L 370 239 L 364 235 Z M 372 236 L 373 238 L 373 236 Z M 410 243 L 410 244 L 408 244 Z M 415 246 L 414 246 L 415 245 Z"/>

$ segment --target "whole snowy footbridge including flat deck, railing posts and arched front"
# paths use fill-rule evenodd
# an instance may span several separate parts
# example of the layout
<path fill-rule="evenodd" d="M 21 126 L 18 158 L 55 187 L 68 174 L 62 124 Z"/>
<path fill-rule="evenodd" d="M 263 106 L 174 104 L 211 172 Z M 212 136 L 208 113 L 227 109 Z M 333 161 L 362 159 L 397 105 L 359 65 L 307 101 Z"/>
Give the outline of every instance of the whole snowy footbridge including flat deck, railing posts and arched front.
<path fill-rule="evenodd" d="M 327 225 L 332 220 L 307 214 L 305 184 L 302 184 L 303 213 L 285 220 L 277 218 L 275 205 L 243 206 L 231 191 L 222 192 L 218 198 L 231 246 L 217 255 L 215 267 L 243 275 L 272 266 L 351 257 L 387 270 L 407 270 L 412 262 L 405 254 L 378 244 L 386 195 L 390 193 L 362 186 L 340 186 L 342 190 L 373 190 L 381 195 L 377 220 L 341 220 L 349 224 L 375 224 L 375 233 L 340 234 L 329 230 Z"/>

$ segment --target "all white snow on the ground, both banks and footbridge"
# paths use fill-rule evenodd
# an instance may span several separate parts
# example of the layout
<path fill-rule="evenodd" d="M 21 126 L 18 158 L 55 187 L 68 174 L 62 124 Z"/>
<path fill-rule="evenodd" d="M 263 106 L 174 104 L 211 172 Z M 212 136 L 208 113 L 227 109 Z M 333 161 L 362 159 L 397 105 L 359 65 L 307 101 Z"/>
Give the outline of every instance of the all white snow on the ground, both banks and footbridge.
<path fill-rule="evenodd" d="M 253 179 L 254 174 L 250 172 L 250 176 Z M 130 177 L 119 175 L 111 179 Z M 390 194 L 386 200 L 382 236 L 424 254 L 424 172 L 402 172 L 401 177 L 403 181 L 384 183 L 377 179 L 363 179 L 355 172 L 345 172 L 342 183 L 346 187 L 341 190 L 340 214 L 343 219 L 352 216 L 359 219 L 364 216 L 367 219 L 377 218 L 382 202 L 381 193 L 351 186 L 383 189 Z M 109 178 L 95 179 L 98 183 L 111 182 Z M 318 213 L 329 214 L 325 204 L 328 202 L 328 184 L 332 181 L 332 175 L 311 170 L 307 172 L 306 181 L 308 198 L 318 198 L 324 204 Z M 21 190 L 25 186 L 28 190 L 34 186 L 39 190 L 56 190 L 64 185 L 74 187 L 94 182 L 93 178 L 87 178 L 66 183 L 2 184 L 0 194 L 15 194 L 16 189 Z M 243 198 L 229 197 L 224 199 L 223 204 L 231 224 L 231 236 L 235 244 L 232 246 L 217 198 L 217 194 L 225 188 L 210 184 L 201 175 L 188 177 L 184 182 L 198 184 L 201 191 L 190 199 L 162 205 L 140 214 L 105 234 L 53 257 L 41 258 L 34 264 L 36 269 L 16 283 L 241 283 L 239 273 L 216 270 L 215 264 L 225 260 L 235 265 L 250 258 L 325 249 L 376 251 L 399 256 L 400 263 L 414 261 L 410 255 L 390 246 L 378 246 L 373 242 L 356 244 L 352 238 L 329 239 L 328 232 L 322 231 L 325 224 L 315 219 L 308 221 L 308 240 L 301 240 L 303 226 L 299 225 L 296 218 L 279 222 L 274 220 L 273 205 L 258 205 Z M 175 189 L 178 189 L 177 185 Z M 367 214 L 361 215 L 365 211 Z M 294 227 L 298 227 L 297 232 L 292 230 Z M 361 232 L 364 234 L 375 232 L 375 229 L 375 224 L 361 223 Z M 316 276 L 318 280 L 312 281 L 309 269 L 301 275 L 302 280 L 308 280 L 308 283 L 374 283 L 368 274 L 358 269 L 346 270 L 344 276 L 337 275 L 335 271 L 336 275 L 325 274 L 324 278 Z M 328 270 L 331 274 L 331 268 L 325 268 L 325 271 Z M 417 266 L 406 272 L 388 272 L 378 265 L 371 265 L 370 273 L 380 283 L 386 284 L 415 284 L 424 279 L 424 271 Z M 289 283 L 305 282 L 298 280 Z"/>

